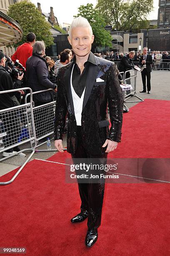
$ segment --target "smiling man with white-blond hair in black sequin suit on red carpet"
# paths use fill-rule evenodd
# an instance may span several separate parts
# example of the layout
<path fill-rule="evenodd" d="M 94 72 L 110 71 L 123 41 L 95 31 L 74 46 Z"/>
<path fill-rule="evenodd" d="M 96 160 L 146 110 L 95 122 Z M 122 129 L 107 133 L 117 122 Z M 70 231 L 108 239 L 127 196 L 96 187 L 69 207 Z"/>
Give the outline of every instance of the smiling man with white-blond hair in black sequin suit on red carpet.
<path fill-rule="evenodd" d="M 79 159 L 97 159 L 98 163 L 105 165 L 107 153 L 117 148 L 121 138 L 123 102 L 116 67 L 111 61 L 94 56 L 90 51 L 94 36 L 85 18 L 73 20 L 68 40 L 75 57 L 58 72 L 55 146 L 63 152 L 62 138 L 67 115 L 67 152 L 71 154 L 73 163 L 79 163 Z M 100 173 L 100 170 L 97 172 Z M 81 212 L 71 222 L 82 222 L 88 217 L 85 245 L 91 247 L 97 241 L 97 228 L 101 222 L 105 180 L 99 179 L 95 183 L 87 179 L 82 183 L 77 179 L 77 182 Z"/>

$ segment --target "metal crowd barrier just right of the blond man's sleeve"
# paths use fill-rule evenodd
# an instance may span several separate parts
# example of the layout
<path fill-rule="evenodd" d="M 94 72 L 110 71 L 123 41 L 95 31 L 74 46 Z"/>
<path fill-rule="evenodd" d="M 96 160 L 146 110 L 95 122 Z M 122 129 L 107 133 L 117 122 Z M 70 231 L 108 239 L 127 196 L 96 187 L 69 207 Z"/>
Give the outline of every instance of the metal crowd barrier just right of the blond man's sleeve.
<path fill-rule="evenodd" d="M 128 72 L 131 72 L 130 77 L 126 78 L 128 76 L 128 74 L 127 74 Z M 140 98 L 138 95 L 136 95 L 136 77 L 137 77 L 137 70 L 135 70 L 135 69 L 131 69 L 131 70 L 125 72 L 124 84 L 131 84 L 133 87 L 133 90 L 126 91 L 126 95 L 124 95 L 124 102 L 128 103 L 128 102 L 143 102 L 144 101 L 142 98 Z M 129 101 L 128 99 L 130 99 L 131 97 L 137 97 L 139 100 Z"/>

